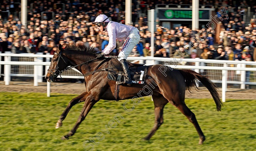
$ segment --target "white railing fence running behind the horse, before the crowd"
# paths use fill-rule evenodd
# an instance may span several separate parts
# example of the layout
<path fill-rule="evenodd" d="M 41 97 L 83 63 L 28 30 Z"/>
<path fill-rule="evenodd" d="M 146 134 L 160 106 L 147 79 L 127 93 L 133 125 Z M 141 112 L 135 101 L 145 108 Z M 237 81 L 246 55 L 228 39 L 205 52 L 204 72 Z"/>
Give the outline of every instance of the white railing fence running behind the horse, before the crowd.
<path fill-rule="evenodd" d="M 10 52 L 0 53 L 4 56 L 4 81 L 9 85 L 11 76 L 34 77 L 34 86 L 42 82 L 50 60 L 53 55 L 43 54 L 13 54 Z M 45 58 L 45 62 L 43 62 Z M 256 62 L 247 61 L 227 61 L 227 60 L 204 60 L 204 59 L 182 59 L 177 62 L 174 58 L 158 57 L 128 57 L 128 61 L 133 63 L 146 63 L 146 65 L 164 64 L 175 69 L 191 69 L 196 72 L 204 72 L 214 83 L 222 83 L 222 101 L 225 101 L 227 83 L 240 84 L 244 89 L 246 84 L 256 85 Z M 45 73 L 43 73 L 45 66 Z M 1 68 L 0 68 L 1 71 Z M 81 78 L 84 76 L 76 69 L 62 73 L 63 78 Z M 50 83 L 47 83 L 47 95 L 50 96 Z"/>

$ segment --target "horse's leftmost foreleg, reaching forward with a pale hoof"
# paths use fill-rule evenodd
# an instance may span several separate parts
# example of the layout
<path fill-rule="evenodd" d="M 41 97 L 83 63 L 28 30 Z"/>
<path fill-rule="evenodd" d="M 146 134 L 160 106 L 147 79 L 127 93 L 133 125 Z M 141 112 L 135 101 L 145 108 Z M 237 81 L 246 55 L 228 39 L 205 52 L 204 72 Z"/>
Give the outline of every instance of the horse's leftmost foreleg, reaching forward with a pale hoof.
<path fill-rule="evenodd" d="M 87 91 L 85 91 L 84 93 L 80 94 L 78 97 L 76 98 L 73 98 L 68 106 L 66 107 L 66 109 L 64 110 L 64 112 L 60 115 L 60 118 L 58 120 L 58 122 L 56 123 L 56 126 L 55 126 L 55 129 L 58 129 L 59 127 L 62 126 L 62 121 L 66 118 L 69 110 L 74 106 L 76 105 L 77 103 L 79 102 L 83 102 L 84 100 L 80 100 L 81 98 L 83 98 L 85 95 L 87 94 Z"/>

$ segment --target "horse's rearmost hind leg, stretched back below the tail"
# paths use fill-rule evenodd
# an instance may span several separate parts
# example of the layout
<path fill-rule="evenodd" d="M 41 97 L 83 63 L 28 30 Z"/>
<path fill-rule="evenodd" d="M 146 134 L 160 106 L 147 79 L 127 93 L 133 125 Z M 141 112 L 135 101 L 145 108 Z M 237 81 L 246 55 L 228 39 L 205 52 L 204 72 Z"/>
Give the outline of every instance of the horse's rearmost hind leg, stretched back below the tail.
<path fill-rule="evenodd" d="M 190 109 L 187 107 L 185 102 L 181 102 L 180 104 L 178 104 L 177 108 L 180 110 L 180 112 L 182 112 L 189 119 L 189 121 L 191 123 L 193 123 L 194 127 L 197 130 L 197 133 L 199 134 L 199 138 L 200 138 L 198 144 L 203 144 L 203 142 L 205 140 L 205 136 L 197 122 L 195 114 L 190 111 Z"/>

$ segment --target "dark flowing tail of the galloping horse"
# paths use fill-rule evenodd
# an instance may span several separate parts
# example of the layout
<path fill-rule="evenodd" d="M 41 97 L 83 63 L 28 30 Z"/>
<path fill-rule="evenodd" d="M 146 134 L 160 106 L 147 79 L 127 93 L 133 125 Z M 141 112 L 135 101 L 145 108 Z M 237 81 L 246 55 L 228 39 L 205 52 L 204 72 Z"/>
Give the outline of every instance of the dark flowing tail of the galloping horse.
<path fill-rule="evenodd" d="M 220 97 L 217 92 L 217 86 L 214 83 L 212 83 L 212 81 L 210 81 L 208 78 L 206 78 L 206 76 L 198 74 L 197 72 L 195 72 L 193 70 L 179 70 L 179 71 L 185 78 L 187 90 L 190 91 L 190 88 L 192 86 L 194 86 L 198 90 L 199 88 L 197 88 L 197 86 L 196 86 L 196 83 L 197 83 L 196 79 L 198 79 L 210 91 L 210 93 L 215 101 L 216 109 L 218 111 L 221 110 L 221 106 L 223 104 L 222 104 L 222 101 L 220 101 Z"/>

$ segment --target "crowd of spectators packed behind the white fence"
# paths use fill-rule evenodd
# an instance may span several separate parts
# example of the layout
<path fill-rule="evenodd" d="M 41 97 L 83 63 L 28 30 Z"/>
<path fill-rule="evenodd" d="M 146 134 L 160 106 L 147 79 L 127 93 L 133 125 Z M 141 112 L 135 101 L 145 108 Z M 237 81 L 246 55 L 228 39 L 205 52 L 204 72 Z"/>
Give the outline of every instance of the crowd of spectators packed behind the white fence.
<path fill-rule="evenodd" d="M 87 47 L 94 46 L 103 50 L 108 45 L 107 32 L 101 33 L 92 22 L 97 15 L 105 14 L 112 21 L 124 21 L 125 5 L 122 0 L 92 0 L 80 3 L 79 0 L 66 0 L 65 11 L 62 11 L 63 1 L 28 1 L 32 10 L 28 12 L 27 27 L 19 20 L 19 7 L 14 3 L 19 0 L 4 0 L 1 3 L 0 11 L 10 11 L 11 14 L 5 19 L 0 15 L 0 51 L 11 51 L 13 53 L 50 53 L 54 54 L 58 44 L 84 43 Z M 186 26 L 167 29 L 156 25 L 154 33 L 154 46 L 150 46 L 151 32 L 147 26 L 147 9 L 152 9 L 156 4 L 191 4 L 192 1 L 182 3 L 180 1 L 133 1 L 132 15 L 133 26 L 140 30 L 140 42 L 133 49 L 129 56 L 150 56 L 154 51 L 154 57 L 174 57 L 180 55 L 183 58 L 202 58 L 216 60 L 247 60 L 256 61 L 256 24 L 251 19 L 251 24 L 246 26 L 239 15 L 244 14 L 245 9 L 238 9 L 233 6 L 232 1 L 200 1 L 204 5 L 214 5 L 217 12 L 225 7 L 229 13 L 229 19 L 222 18 L 223 30 L 220 33 L 219 47 L 214 46 L 216 36 L 213 30 L 208 35 L 199 35 L 197 41 L 190 41 L 200 29 L 190 29 Z M 32 5 L 30 5 L 33 3 Z M 136 7 L 141 4 L 140 7 Z M 143 4 L 144 7 L 143 7 Z M 149 7 L 146 7 L 149 5 Z M 220 6 L 230 5 L 230 6 Z M 240 5 L 247 5 L 241 1 Z M 20 5 L 19 5 L 20 6 Z M 252 7 L 256 13 L 256 7 Z M 41 16 L 41 12 L 43 13 Z M 55 19 L 52 19 L 52 13 Z M 140 15 L 139 15 L 140 14 Z M 144 14 L 144 15 L 141 15 Z M 116 49 L 111 54 L 117 56 L 123 40 L 117 40 Z M 192 49 L 187 52 L 183 47 L 190 45 Z"/>

